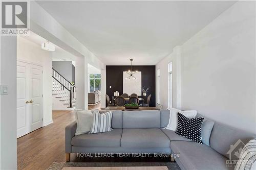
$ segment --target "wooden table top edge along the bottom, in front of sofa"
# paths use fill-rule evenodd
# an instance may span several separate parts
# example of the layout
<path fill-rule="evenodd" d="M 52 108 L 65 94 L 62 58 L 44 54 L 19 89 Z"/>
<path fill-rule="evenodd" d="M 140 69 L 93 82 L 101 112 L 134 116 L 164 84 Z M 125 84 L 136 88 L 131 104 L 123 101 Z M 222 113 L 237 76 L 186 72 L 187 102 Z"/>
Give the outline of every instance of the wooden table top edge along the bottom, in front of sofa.
<path fill-rule="evenodd" d="M 167 166 L 63 167 L 62 170 L 168 170 Z"/>

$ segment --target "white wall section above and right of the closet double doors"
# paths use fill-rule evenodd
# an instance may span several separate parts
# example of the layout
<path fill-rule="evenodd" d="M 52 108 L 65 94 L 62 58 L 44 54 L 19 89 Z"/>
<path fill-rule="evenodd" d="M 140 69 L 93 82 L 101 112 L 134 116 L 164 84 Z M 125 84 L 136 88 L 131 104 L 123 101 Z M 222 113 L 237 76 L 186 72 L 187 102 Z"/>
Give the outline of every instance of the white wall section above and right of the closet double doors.
<path fill-rule="evenodd" d="M 52 123 L 52 52 L 42 50 L 35 42 L 17 36 L 17 59 L 43 67 L 44 126 L 49 125 Z"/>

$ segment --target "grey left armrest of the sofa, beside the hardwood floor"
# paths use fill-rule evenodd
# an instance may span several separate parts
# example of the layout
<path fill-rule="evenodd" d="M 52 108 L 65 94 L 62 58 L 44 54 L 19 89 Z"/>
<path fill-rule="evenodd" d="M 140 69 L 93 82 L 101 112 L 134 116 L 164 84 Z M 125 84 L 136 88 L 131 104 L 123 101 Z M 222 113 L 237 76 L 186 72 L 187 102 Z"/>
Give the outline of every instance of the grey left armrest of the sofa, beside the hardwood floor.
<path fill-rule="evenodd" d="M 76 133 L 76 122 L 72 122 L 70 125 L 66 126 L 65 129 L 65 150 L 66 153 L 72 153 L 71 139 Z"/>

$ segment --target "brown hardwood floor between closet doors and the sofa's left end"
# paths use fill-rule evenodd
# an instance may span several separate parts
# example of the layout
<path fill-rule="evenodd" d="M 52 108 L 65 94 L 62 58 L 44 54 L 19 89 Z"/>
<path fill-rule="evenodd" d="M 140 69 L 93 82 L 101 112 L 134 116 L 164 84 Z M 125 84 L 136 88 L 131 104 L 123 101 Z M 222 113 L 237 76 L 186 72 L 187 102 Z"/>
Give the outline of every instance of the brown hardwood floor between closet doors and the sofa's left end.
<path fill-rule="evenodd" d="M 65 162 L 65 127 L 74 111 L 53 111 L 53 123 L 17 139 L 18 169 L 46 169 Z"/>

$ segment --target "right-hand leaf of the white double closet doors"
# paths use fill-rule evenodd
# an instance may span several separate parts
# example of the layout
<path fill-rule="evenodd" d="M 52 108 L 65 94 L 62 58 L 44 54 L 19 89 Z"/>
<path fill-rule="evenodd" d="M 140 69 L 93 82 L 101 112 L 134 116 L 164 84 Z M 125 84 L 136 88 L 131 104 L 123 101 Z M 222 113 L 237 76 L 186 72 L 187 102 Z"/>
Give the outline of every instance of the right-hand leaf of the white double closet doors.
<path fill-rule="evenodd" d="M 30 132 L 42 127 L 42 67 L 29 65 Z"/>

